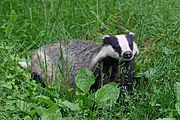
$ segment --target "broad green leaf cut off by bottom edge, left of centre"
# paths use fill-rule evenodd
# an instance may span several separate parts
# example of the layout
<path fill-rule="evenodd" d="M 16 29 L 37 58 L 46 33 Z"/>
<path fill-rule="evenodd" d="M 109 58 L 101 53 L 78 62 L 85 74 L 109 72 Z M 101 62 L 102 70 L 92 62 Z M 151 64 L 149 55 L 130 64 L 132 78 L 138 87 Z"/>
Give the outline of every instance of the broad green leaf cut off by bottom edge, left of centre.
<path fill-rule="evenodd" d="M 42 115 L 41 120 L 61 120 L 62 115 L 58 106 L 51 106 L 49 109 L 46 109 Z"/>

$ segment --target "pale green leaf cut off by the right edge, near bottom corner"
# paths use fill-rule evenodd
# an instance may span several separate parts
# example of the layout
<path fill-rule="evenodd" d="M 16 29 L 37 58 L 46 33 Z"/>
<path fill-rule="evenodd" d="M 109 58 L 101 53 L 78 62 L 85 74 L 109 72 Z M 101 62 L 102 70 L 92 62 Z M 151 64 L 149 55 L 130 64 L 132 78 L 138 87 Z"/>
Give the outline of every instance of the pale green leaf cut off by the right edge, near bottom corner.
<path fill-rule="evenodd" d="M 180 82 L 176 82 L 176 111 L 180 115 Z"/>

